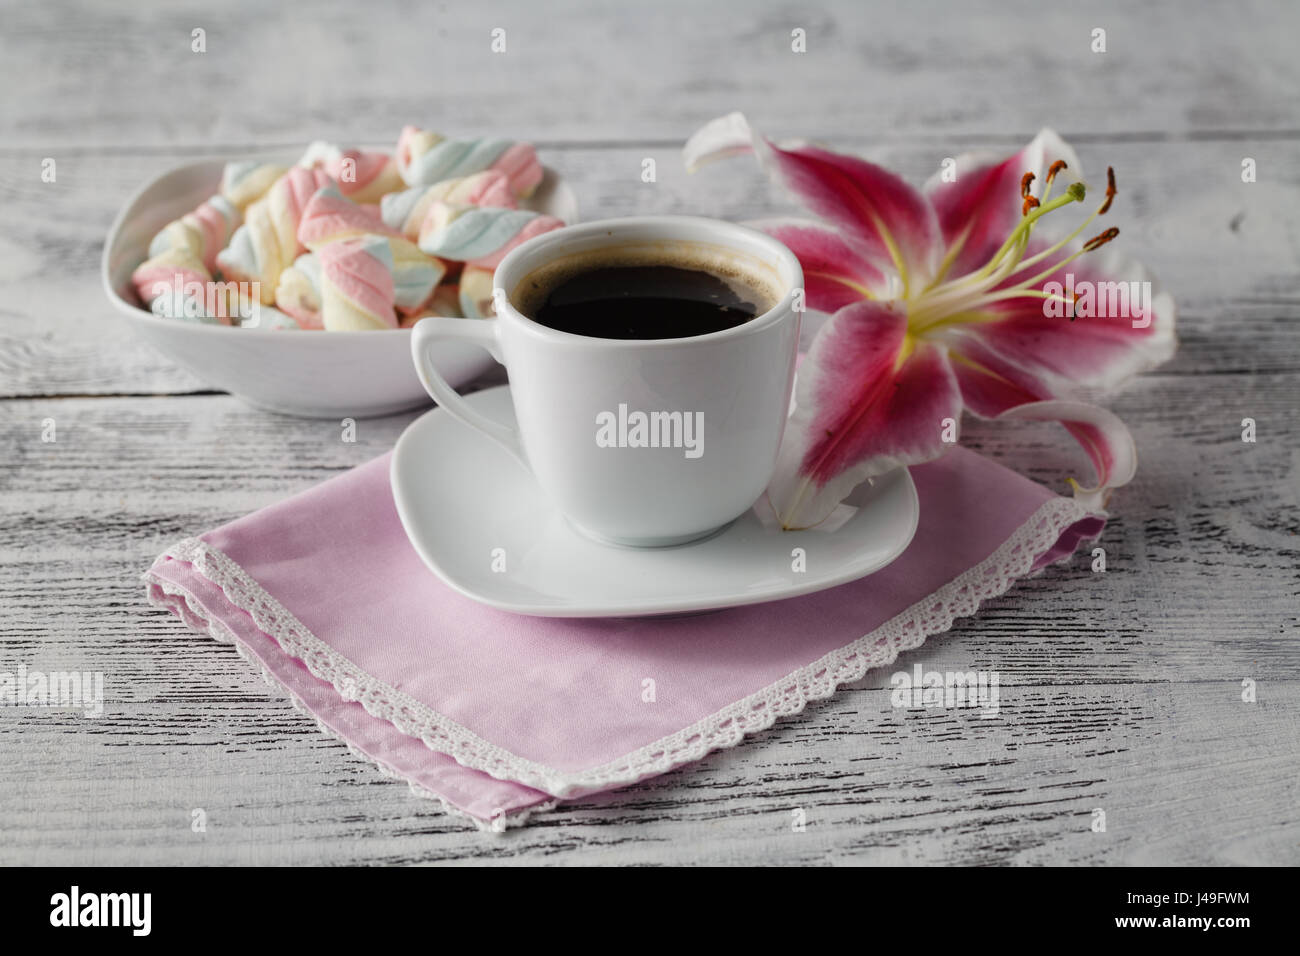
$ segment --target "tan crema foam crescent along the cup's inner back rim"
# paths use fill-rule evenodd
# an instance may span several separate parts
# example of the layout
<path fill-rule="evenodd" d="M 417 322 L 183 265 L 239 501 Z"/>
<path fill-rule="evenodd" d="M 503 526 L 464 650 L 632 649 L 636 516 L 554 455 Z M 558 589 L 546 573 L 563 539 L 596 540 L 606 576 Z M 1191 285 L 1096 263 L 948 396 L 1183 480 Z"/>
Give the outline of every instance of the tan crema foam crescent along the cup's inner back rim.
<path fill-rule="evenodd" d="M 770 312 L 785 297 L 785 284 L 776 269 L 757 256 L 724 246 L 673 239 L 598 246 L 552 259 L 519 280 L 510 290 L 510 302 L 523 315 L 534 319 L 550 294 L 576 276 L 597 269 L 655 265 L 716 276 L 741 299 L 757 294 L 759 310 L 755 319 Z"/>

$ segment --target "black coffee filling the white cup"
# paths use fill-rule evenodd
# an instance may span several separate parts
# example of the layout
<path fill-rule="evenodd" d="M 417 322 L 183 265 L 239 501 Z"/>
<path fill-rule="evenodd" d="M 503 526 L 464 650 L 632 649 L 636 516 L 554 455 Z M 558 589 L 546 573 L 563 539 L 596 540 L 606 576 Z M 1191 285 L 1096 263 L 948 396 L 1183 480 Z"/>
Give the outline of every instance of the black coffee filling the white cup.
<path fill-rule="evenodd" d="M 526 282 L 526 280 L 525 280 Z M 767 312 L 771 293 L 740 274 L 679 264 L 594 264 L 525 294 L 525 315 L 559 332 L 595 338 L 688 338 Z"/>

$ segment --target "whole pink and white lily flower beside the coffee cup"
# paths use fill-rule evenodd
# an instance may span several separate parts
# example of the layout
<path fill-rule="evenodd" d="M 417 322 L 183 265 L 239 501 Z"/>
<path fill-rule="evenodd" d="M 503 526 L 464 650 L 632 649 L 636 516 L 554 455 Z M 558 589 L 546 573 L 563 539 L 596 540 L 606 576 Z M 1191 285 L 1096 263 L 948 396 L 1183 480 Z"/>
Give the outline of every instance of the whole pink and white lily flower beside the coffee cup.
<path fill-rule="evenodd" d="M 1006 159 L 963 156 L 920 191 L 854 156 L 776 144 L 741 113 L 696 133 L 684 159 L 694 170 L 744 152 L 820 217 L 755 225 L 798 256 L 807 307 L 832 313 L 800 368 L 768 486 L 784 527 L 812 527 L 862 481 L 939 458 L 963 410 L 1061 421 L 1096 471 L 1089 488 L 1070 480 L 1089 507 L 1132 479 L 1128 429 L 1091 399 L 1174 354 L 1175 308 L 1108 246 L 1118 229 L 1080 238 L 1110 209 L 1112 170 L 1096 211 L 1053 241 L 1039 221 L 1087 189 L 1052 130 Z"/>

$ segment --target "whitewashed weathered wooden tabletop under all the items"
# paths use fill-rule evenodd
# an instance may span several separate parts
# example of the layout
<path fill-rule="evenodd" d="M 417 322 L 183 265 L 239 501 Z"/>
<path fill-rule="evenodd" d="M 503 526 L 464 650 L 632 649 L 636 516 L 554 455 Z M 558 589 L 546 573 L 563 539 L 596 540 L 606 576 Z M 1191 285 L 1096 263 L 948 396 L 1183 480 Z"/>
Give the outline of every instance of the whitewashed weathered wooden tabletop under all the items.
<path fill-rule="evenodd" d="M 98 719 L 0 708 L 0 862 L 1300 861 L 1300 7 L 1083 7 L 0 5 L 0 671 L 107 679 Z M 344 444 L 133 339 L 98 272 L 130 190 L 199 155 L 420 122 L 536 140 L 585 217 L 784 208 L 749 161 L 681 170 L 684 138 L 736 108 L 916 182 L 1054 125 L 1115 166 L 1121 242 L 1178 298 L 1179 355 L 1112 403 L 1141 471 L 1112 502 L 1108 571 L 1076 555 L 897 665 L 998 671 L 1000 719 L 896 711 L 872 674 L 491 836 L 144 604 L 168 544 L 381 454 L 412 415 Z M 1079 464 L 1049 425 L 965 437 L 1057 489 Z"/>

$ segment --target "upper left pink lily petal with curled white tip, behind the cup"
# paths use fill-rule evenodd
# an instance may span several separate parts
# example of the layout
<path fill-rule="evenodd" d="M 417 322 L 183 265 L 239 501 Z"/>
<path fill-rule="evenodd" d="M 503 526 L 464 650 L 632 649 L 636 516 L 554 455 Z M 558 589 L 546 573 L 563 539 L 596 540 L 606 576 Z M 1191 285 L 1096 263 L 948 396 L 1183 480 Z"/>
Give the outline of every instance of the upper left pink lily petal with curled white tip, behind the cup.
<path fill-rule="evenodd" d="M 699 129 L 682 150 L 690 170 L 753 150 L 812 213 L 863 243 L 867 255 L 893 263 L 905 284 L 923 285 L 942 251 L 930 202 L 888 169 L 807 143 L 779 146 L 755 133 L 742 113 Z"/>

